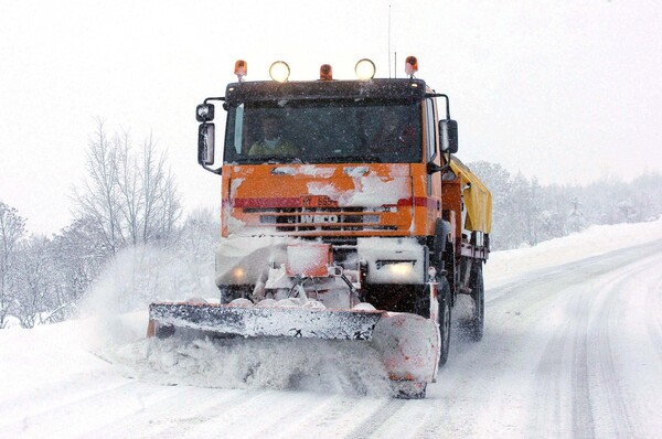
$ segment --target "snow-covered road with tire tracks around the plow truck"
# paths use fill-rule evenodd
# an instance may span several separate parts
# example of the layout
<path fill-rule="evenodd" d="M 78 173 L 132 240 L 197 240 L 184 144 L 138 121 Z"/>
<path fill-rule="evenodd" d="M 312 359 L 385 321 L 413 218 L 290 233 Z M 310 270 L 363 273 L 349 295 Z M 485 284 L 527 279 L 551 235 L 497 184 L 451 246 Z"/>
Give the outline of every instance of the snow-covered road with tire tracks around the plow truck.
<path fill-rule="evenodd" d="M 659 437 L 662 240 L 520 274 L 485 293 L 424 400 L 166 386 L 76 342 L 0 333 L 0 437 Z M 130 375 L 130 373 L 129 373 Z"/>

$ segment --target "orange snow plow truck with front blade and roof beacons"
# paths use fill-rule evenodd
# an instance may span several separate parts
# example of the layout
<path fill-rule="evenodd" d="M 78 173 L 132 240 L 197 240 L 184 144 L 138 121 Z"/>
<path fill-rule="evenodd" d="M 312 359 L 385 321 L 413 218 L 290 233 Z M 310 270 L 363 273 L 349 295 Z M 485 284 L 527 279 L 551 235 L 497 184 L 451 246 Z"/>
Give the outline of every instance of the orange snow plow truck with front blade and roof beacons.
<path fill-rule="evenodd" d="M 197 160 L 222 176 L 218 302 L 152 303 L 148 335 L 367 341 L 395 395 L 425 397 L 458 326 L 483 334 L 482 266 L 491 195 L 453 154 L 450 103 L 415 77 L 236 83 L 196 108 Z M 442 107 L 438 106 L 438 99 Z M 226 111 L 223 161 L 214 164 L 214 101 Z M 444 113 L 444 117 L 439 116 Z"/>

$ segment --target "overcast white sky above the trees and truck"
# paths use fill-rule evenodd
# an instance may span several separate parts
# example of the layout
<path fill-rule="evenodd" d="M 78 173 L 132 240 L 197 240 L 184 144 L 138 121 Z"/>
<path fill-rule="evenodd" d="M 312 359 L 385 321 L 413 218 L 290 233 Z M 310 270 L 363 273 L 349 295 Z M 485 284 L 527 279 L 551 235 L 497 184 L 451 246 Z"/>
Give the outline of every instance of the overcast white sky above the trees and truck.
<path fill-rule="evenodd" d="M 451 97 L 459 157 L 542 183 L 662 171 L 659 1 L 0 1 L 0 200 L 35 233 L 71 221 L 85 150 L 104 118 L 168 150 L 188 208 L 220 203 L 197 167 L 195 105 L 289 63 L 353 78 L 362 57 Z"/>

